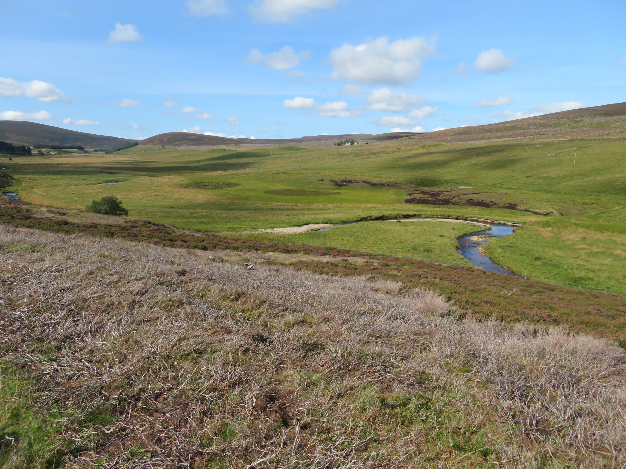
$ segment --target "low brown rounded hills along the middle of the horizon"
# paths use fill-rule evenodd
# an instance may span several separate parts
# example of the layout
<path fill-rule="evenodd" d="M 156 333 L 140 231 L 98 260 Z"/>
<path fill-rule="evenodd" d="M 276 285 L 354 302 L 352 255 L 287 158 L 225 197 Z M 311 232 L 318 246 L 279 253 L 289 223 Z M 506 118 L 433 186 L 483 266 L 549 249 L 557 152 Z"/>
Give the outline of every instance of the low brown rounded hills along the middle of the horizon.
<path fill-rule="evenodd" d="M 210 145 L 241 145 L 241 144 L 294 144 L 316 141 L 339 141 L 346 138 L 354 138 L 356 140 L 365 141 L 382 141 L 382 140 L 394 140 L 398 138 L 404 138 L 408 136 L 419 135 L 412 132 L 394 132 L 386 134 L 340 134 L 340 135 L 316 135 L 310 137 L 300 138 L 273 138 L 273 139 L 260 139 L 260 138 L 227 138 L 218 137 L 215 135 L 195 134 L 191 132 L 168 132 L 164 134 L 158 134 L 139 142 L 140 145 L 156 145 L 156 146 L 210 146 Z"/>

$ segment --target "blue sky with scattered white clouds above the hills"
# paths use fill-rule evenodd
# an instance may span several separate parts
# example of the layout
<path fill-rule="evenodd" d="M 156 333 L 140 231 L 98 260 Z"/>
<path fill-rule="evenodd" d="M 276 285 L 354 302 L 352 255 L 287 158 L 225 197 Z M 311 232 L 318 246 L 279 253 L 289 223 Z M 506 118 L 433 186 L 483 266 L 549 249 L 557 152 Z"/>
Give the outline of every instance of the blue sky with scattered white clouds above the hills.
<path fill-rule="evenodd" d="M 0 119 L 431 131 L 626 101 L 622 1 L 0 0 Z"/>

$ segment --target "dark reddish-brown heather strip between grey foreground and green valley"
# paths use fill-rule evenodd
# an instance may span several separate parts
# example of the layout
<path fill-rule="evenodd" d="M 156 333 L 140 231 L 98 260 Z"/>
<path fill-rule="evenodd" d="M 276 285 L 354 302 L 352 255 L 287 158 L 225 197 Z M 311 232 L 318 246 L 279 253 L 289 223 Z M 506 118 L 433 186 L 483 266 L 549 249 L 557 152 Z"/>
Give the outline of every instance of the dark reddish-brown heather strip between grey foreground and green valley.
<path fill-rule="evenodd" d="M 234 256 L 232 261 L 235 263 L 252 261 L 286 264 L 298 270 L 332 276 L 373 276 L 399 281 L 415 288 L 428 285 L 448 300 L 454 301 L 459 307 L 455 313 L 459 318 L 497 318 L 507 323 L 531 321 L 542 325 L 565 324 L 574 331 L 593 333 L 626 343 L 626 296 L 573 290 L 460 265 L 429 263 L 371 252 L 266 243 L 213 233 L 194 235 L 187 230 L 173 229 L 150 221 L 73 210 L 59 211 L 23 202 L 0 201 L 0 221 L 56 233 L 156 243 L 176 248 L 227 249 L 230 250 L 228 258 Z M 395 222 L 391 223 L 391 226 L 397 226 Z M 439 237 L 436 239 L 443 243 L 451 241 Z M 24 249 L 31 247 L 23 246 Z M 225 253 L 219 256 L 225 256 Z M 511 295 L 503 294 L 503 291 L 514 290 L 515 293 Z"/>

